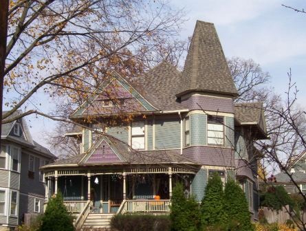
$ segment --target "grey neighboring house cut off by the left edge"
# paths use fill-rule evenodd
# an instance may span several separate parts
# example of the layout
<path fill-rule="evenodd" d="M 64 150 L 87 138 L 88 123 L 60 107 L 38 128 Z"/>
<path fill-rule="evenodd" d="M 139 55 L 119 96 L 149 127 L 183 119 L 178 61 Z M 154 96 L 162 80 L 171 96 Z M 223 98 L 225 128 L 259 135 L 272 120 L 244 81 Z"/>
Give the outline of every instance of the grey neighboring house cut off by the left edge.
<path fill-rule="evenodd" d="M 43 212 L 45 184 L 39 167 L 56 157 L 32 140 L 23 118 L 1 129 L 0 230 L 14 230 L 26 213 Z"/>

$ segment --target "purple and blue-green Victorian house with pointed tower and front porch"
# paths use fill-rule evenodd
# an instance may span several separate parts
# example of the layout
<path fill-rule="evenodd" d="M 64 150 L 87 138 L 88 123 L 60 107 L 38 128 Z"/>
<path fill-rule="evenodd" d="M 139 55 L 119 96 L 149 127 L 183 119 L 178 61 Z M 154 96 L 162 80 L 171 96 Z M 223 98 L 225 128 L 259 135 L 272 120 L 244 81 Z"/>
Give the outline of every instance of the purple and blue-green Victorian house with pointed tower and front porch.
<path fill-rule="evenodd" d="M 92 213 L 168 212 L 179 181 L 201 201 L 217 172 L 239 180 L 256 219 L 252 142 L 266 138 L 265 117 L 260 103 L 236 97 L 215 26 L 197 21 L 183 72 L 166 62 L 135 79 L 113 72 L 72 113 L 91 129 L 67 134 L 82 138 L 79 155 L 43 167 L 47 196 L 61 191 L 69 211 L 85 214 L 77 226 L 81 217 L 101 226 Z"/>

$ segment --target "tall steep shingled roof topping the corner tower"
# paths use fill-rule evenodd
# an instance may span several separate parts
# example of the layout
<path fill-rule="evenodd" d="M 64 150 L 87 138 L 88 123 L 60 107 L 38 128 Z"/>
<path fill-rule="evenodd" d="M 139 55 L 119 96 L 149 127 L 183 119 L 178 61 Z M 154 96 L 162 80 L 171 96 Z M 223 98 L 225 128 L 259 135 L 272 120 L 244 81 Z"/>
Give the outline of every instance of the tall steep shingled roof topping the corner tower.
<path fill-rule="evenodd" d="M 237 96 L 213 23 L 197 21 L 195 25 L 177 96 L 190 91 Z"/>

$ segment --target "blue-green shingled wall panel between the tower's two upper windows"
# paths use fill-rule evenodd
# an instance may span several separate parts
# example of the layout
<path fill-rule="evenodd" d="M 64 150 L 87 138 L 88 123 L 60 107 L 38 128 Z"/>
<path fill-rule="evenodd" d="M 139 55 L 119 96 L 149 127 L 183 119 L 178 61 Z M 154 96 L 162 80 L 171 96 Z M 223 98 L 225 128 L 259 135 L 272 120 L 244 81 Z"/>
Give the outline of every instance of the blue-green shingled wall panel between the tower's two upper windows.
<path fill-rule="evenodd" d="M 190 115 L 190 144 L 206 145 L 207 144 L 207 115 L 193 114 Z"/>

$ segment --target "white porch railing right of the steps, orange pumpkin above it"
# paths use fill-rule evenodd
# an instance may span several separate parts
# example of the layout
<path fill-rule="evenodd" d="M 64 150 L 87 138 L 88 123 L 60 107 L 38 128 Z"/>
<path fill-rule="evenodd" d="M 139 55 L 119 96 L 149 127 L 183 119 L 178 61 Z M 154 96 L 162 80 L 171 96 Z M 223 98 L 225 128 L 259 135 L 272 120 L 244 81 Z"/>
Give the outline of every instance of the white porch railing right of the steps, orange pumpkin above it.
<path fill-rule="evenodd" d="M 118 213 L 125 212 L 170 212 L 170 201 L 168 199 L 135 199 L 122 202 Z"/>

